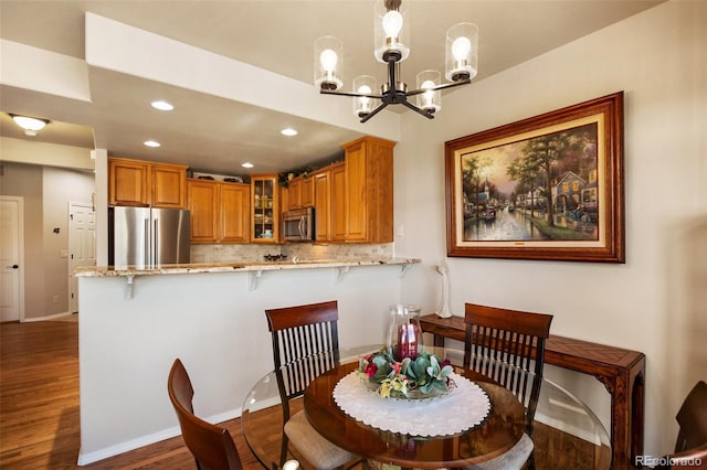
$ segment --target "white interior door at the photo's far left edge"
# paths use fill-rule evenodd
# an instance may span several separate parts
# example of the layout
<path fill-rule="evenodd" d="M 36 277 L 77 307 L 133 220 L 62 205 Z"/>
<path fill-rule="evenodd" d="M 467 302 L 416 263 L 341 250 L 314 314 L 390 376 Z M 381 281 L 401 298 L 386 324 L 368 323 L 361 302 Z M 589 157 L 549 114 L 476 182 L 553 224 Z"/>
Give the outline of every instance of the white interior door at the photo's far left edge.
<path fill-rule="evenodd" d="M 24 200 L 0 196 L 0 321 L 24 320 Z"/>

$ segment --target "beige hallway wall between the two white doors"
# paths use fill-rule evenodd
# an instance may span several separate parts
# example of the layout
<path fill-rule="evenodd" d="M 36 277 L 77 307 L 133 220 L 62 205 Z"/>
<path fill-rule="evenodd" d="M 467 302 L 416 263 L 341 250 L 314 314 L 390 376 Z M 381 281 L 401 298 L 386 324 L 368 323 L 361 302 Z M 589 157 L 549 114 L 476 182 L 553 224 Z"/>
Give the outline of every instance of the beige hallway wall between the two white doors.
<path fill-rule="evenodd" d="M 52 147 L 61 148 L 40 146 L 50 152 Z M 24 199 L 24 319 L 66 313 L 68 258 L 62 257 L 62 250 L 68 250 L 68 203 L 91 202 L 93 172 L 8 161 L 0 164 L 0 194 Z"/>

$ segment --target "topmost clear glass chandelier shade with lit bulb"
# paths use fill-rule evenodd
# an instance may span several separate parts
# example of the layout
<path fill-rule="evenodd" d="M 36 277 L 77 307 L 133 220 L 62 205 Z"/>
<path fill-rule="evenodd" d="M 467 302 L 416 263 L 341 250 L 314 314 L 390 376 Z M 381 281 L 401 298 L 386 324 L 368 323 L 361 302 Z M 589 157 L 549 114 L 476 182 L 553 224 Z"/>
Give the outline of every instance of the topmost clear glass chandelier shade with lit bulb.
<path fill-rule="evenodd" d="M 404 61 L 410 55 L 408 9 L 400 0 L 377 0 L 373 4 L 373 55 L 378 62 Z"/>

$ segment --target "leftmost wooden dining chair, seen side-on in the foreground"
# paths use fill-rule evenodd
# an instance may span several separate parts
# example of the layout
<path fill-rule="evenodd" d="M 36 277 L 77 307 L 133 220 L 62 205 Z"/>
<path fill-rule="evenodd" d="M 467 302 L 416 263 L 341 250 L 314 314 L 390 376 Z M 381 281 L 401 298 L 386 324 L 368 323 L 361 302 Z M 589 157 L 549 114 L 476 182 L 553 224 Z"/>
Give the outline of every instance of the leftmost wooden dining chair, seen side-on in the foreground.
<path fill-rule="evenodd" d="M 175 360 L 167 380 L 184 444 L 200 470 L 241 470 L 241 457 L 228 429 L 207 423 L 194 415 L 194 395 L 189 374 L 179 359 Z"/>

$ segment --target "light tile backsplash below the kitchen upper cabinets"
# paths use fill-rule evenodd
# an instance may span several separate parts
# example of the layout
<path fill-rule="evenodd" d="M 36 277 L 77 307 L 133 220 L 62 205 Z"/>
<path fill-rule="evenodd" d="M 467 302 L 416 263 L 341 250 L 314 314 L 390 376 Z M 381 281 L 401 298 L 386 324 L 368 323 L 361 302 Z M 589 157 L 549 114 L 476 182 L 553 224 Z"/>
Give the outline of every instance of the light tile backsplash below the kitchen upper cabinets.
<path fill-rule="evenodd" d="M 191 263 L 254 263 L 265 255 L 287 255 L 287 259 L 392 258 L 392 243 L 380 245 L 289 243 L 284 245 L 213 244 L 191 245 Z"/>

